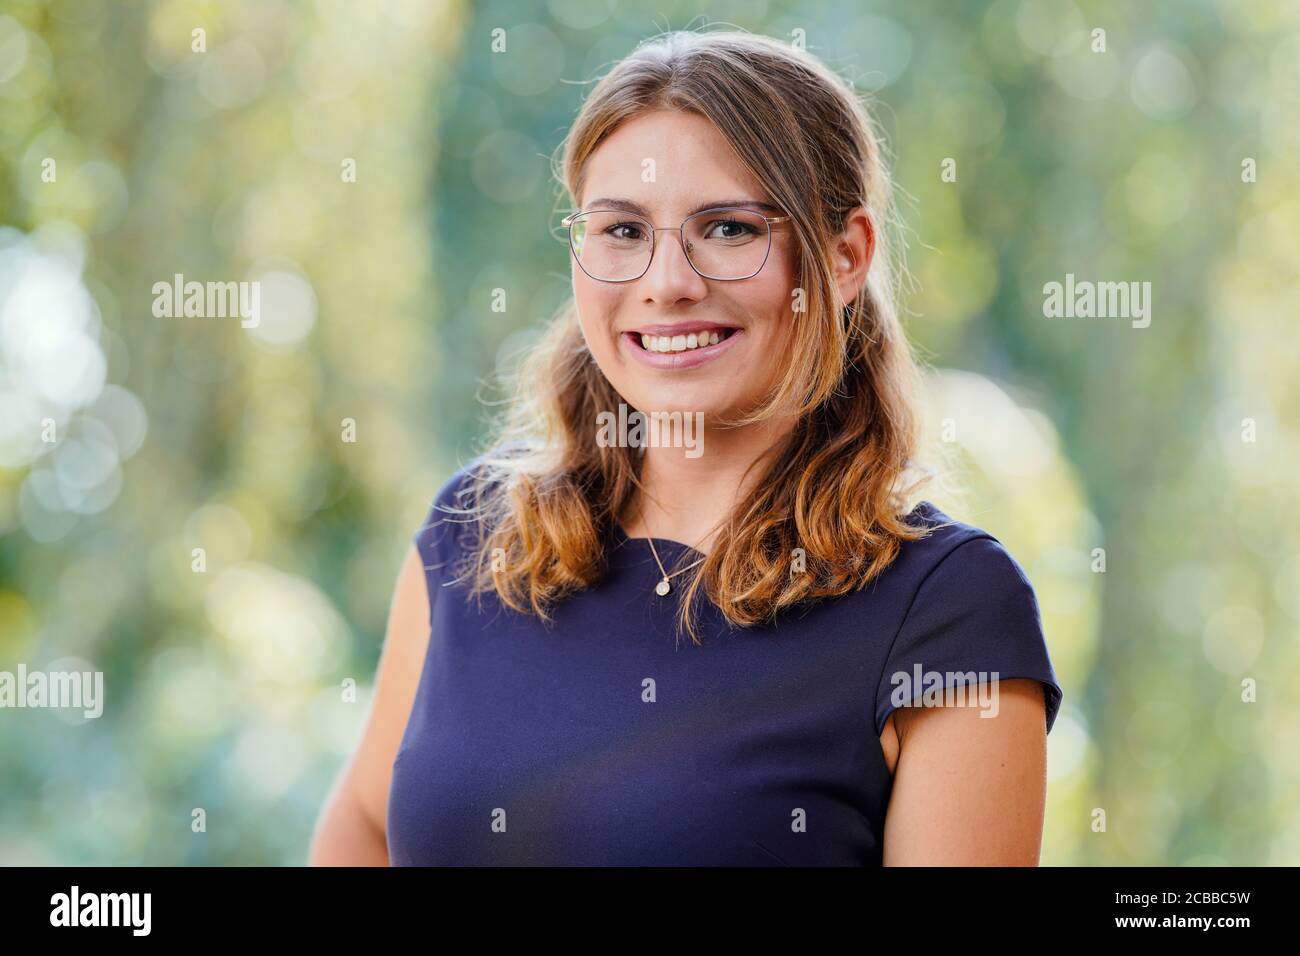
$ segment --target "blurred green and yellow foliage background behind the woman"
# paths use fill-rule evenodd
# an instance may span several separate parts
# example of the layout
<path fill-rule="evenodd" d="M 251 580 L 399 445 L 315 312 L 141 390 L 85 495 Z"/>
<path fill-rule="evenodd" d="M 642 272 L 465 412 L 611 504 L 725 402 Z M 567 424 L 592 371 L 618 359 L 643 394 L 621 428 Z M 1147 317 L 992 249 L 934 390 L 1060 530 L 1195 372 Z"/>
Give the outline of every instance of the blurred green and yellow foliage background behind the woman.
<path fill-rule="evenodd" d="M 875 104 L 926 497 L 1024 566 L 1065 685 L 1043 862 L 1300 862 L 1300 4 L 0 10 L 0 670 L 107 693 L 0 710 L 0 861 L 306 860 L 403 551 L 568 295 L 549 156 L 722 22 Z M 156 317 L 176 273 L 260 324 Z M 1149 281 L 1149 328 L 1045 317 L 1066 273 Z"/>

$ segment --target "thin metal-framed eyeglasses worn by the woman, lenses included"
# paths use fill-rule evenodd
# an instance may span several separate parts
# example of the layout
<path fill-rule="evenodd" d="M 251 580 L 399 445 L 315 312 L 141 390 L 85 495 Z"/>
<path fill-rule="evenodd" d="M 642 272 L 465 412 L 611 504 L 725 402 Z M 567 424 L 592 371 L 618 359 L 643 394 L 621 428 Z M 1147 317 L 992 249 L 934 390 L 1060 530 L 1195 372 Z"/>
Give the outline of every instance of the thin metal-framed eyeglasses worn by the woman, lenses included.
<path fill-rule="evenodd" d="M 655 226 L 621 209 L 589 209 L 560 220 L 568 226 L 573 258 L 592 278 L 630 282 L 641 278 L 654 258 L 654 237 L 675 232 L 690 268 L 705 278 L 733 281 L 757 276 L 772 248 L 772 224 L 789 216 L 762 216 L 724 206 L 686 216 L 680 226 Z"/>

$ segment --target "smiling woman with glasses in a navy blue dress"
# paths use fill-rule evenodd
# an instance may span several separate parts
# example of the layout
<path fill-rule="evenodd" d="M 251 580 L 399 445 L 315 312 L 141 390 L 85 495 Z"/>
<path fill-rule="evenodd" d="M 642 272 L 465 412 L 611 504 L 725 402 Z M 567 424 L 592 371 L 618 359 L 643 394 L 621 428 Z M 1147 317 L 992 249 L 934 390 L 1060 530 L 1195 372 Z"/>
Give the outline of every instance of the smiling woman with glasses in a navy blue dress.
<path fill-rule="evenodd" d="M 670 34 L 562 173 L 573 302 L 416 535 L 313 862 L 1036 864 L 1061 688 L 1002 545 L 906 507 L 859 101 Z"/>

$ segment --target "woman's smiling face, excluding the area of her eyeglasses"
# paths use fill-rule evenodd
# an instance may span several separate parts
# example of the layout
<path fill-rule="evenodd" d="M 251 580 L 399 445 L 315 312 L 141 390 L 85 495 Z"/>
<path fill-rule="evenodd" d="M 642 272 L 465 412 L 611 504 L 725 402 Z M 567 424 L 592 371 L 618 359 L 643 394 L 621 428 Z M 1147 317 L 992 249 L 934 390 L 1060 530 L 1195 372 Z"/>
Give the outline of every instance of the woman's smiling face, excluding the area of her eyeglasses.
<path fill-rule="evenodd" d="M 578 200 L 582 211 L 611 208 L 610 200 L 634 203 L 655 226 L 677 226 L 705 207 L 771 203 L 771 196 L 708 120 L 659 111 L 627 121 L 601 143 Z M 715 237 L 737 233 L 725 224 L 708 228 Z M 634 229 L 619 235 L 636 237 Z M 733 281 L 699 276 L 677 232 L 655 233 L 650 268 L 628 282 L 592 278 L 569 258 L 588 349 L 629 406 L 702 412 L 708 427 L 714 416 L 759 405 L 789 362 L 794 289 L 794 234 L 788 222 L 772 225 L 771 234 L 771 252 L 758 274 Z M 702 346 L 710 329 L 720 341 Z M 682 349 L 692 334 L 697 347 Z M 650 337 L 650 350 L 642 336 Z M 684 338 L 673 342 L 679 336 Z"/>

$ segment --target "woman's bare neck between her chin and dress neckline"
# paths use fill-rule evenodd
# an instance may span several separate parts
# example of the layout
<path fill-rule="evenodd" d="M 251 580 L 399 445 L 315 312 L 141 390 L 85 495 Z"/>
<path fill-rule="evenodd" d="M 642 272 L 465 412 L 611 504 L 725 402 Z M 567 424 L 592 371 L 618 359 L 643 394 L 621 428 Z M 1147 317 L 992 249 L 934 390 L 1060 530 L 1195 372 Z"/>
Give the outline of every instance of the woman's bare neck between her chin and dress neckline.
<path fill-rule="evenodd" d="M 698 458 L 688 458 L 680 447 L 647 447 L 644 490 L 624 514 L 624 531 L 629 537 L 680 541 L 707 554 L 727 516 L 762 477 L 763 459 L 792 427 L 792 419 L 774 418 L 745 428 L 707 429 Z"/>

